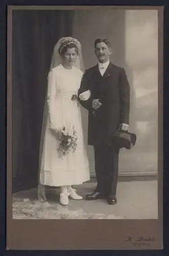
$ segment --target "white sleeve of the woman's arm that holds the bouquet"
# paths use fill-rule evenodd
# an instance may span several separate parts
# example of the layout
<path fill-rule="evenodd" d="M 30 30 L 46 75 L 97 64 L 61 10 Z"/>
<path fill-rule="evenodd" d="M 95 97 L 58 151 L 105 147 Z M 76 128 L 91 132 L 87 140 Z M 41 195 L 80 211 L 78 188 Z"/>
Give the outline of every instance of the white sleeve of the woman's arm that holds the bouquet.
<path fill-rule="evenodd" d="M 56 98 L 56 78 L 54 71 L 50 71 L 48 75 L 48 89 L 47 89 L 47 105 L 50 114 L 50 127 L 55 129 L 55 98 Z"/>

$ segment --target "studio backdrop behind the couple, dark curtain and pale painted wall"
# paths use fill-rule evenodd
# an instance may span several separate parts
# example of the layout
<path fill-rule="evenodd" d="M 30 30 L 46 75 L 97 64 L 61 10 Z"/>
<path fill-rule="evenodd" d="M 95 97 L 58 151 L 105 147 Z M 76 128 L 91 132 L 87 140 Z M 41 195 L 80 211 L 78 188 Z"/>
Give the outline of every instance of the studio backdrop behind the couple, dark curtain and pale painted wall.
<path fill-rule="evenodd" d="M 14 10 L 12 48 L 13 191 L 37 186 L 47 74 L 57 40 L 82 44 L 85 68 L 96 63 L 94 40 L 112 41 L 111 61 L 124 67 L 131 87 L 131 151 L 122 150 L 119 175 L 157 175 L 158 27 L 153 10 Z M 87 146 L 88 113 L 82 109 Z M 93 148 L 87 146 L 91 176 Z"/>

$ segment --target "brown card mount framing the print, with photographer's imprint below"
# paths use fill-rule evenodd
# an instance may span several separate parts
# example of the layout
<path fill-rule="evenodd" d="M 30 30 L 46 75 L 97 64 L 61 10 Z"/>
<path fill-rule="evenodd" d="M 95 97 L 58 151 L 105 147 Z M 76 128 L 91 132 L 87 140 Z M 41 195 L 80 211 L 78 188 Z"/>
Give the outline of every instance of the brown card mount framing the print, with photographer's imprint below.
<path fill-rule="evenodd" d="M 158 11 L 158 219 L 12 219 L 12 30 L 13 10 L 114 8 Z M 163 6 L 8 6 L 7 23 L 7 249 L 85 250 L 163 248 Z M 44 232 L 45 230 L 45 232 Z M 115 230 L 115 232 L 113 232 Z M 23 236 L 24 234 L 24 236 Z M 63 239 L 64 237 L 64 239 Z M 128 241 L 133 237 L 133 241 Z M 152 238 L 136 242 L 138 237 Z M 55 239 L 54 239 L 55 238 Z"/>

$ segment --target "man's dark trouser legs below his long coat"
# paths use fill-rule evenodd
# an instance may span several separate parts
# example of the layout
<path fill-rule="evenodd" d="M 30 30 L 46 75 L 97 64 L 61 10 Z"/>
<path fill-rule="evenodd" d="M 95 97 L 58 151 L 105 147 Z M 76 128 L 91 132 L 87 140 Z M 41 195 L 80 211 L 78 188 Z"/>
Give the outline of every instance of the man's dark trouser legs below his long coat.
<path fill-rule="evenodd" d="M 119 150 L 107 145 L 94 146 L 96 192 L 104 196 L 115 196 L 118 180 Z"/>

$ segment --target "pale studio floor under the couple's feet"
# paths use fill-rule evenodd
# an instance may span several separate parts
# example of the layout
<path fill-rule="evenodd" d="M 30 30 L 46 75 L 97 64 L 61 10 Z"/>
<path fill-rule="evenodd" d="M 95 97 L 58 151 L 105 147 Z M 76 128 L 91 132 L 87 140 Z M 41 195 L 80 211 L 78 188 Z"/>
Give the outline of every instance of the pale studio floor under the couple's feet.
<path fill-rule="evenodd" d="M 95 188 L 94 182 L 75 187 L 85 197 Z M 157 181 L 122 181 L 117 186 L 117 204 L 96 201 L 70 200 L 68 206 L 59 204 L 56 189 L 47 189 L 47 202 L 39 204 L 36 189 L 13 194 L 15 219 L 157 219 Z M 43 206 L 42 206 L 43 205 Z M 43 209 L 43 210 L 42 210 Z M 46 210 L 48 209 L 48 210 Z M 57 212 L 57 214 L 56 214 Z M 60 215 L 58 215 L 58 212 Z M 59 217 L 58 217 L 59 216 Z"/>

